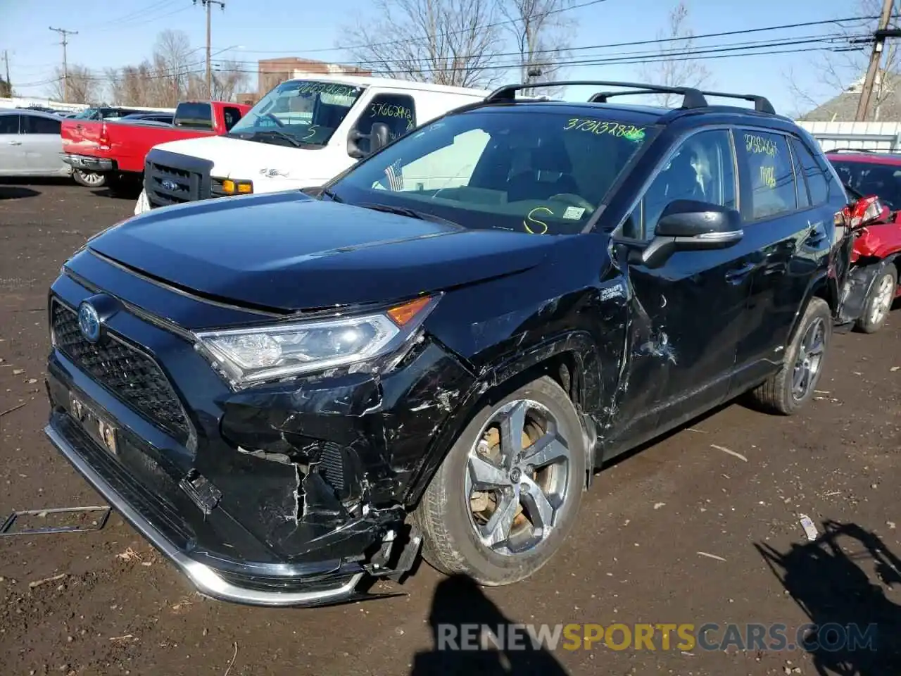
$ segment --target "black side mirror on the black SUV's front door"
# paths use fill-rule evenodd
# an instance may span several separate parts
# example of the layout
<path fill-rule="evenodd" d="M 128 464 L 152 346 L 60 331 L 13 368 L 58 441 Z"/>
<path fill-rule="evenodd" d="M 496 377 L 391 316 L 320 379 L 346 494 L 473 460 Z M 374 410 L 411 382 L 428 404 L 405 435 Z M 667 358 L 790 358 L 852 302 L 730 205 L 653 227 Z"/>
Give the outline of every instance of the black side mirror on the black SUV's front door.
<path fill-rule="evenodd" d="M 630 262 L 659 268 L 676 251 L 726 249 L 741 241 L 742 215 L 725 206 L 677 199 L 667 205 L 654 229 L 654 239 Z"/>

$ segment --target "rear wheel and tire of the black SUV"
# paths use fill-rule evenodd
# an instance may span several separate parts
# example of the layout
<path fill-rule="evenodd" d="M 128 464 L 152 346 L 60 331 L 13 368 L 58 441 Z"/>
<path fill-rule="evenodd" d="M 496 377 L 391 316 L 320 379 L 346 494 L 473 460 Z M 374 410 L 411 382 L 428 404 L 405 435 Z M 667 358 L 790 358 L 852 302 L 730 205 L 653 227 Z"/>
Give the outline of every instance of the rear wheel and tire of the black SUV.
<path fill-rule="evenodd" d="M 814 396 L 832 335 L 832 311 L 823 298 L 811 298 L 788 343 L 785 361 L 776 373 L 751 390 L 751 398 L 772 413 L 794 415 Z"/>

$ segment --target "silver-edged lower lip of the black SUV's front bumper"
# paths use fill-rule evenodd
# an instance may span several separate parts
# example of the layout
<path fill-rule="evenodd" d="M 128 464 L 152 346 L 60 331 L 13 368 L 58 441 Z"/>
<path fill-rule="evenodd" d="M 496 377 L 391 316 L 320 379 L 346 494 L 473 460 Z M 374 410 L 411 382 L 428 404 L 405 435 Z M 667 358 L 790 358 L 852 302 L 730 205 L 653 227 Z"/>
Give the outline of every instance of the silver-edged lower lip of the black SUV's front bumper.
<path fill-rule="evenodd" d="M 196 561 L 185 551 L 185 544 L 176 544 L 174 538 L 154 523 L 165 522 L 162 514 L 154 514 L 155 510 L 149 503 L 140 500 L 137 495 L 126 497 L 128 479 L 123 476 L 118 480 L 114 478 L 110 461 L 98 461 L 98 453 L 103 451 L 92 449 L 92 443 L 86 436 L 82 435 L 76 441 L 79 436 L 77 429 L 62 414 L 54 416 L 44 432 L 78 473 L 135 530 L 173 562 L 198 591 L 207 596 L 254 606 L 316 606 L 350 598 L 363 577 L 364 571 L 361 569 L 350 572 L 354 568 L 343 575 L 335 571 L 311 578 L 308 574 L 304 575 L 303 566 L 241 562 L 240 566 L 232 566 L 229 570 L 224 565 L 216 568 Z M 143 510 L 139 507 L 141 503 Z M 273 589 L 259 589 L 262 584 L 268 584 Z"/>

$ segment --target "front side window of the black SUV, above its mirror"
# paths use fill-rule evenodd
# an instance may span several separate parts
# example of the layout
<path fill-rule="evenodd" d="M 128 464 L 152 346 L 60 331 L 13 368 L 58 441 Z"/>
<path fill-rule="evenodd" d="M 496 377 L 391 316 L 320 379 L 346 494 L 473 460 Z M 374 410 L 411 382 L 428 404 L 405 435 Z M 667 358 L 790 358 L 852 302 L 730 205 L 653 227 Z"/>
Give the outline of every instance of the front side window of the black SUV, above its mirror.
<path fill-rule="evenodd" d="M 651 240 L 660 214 L 676 199 L 736 208 L 732 137 L 725 129 L 689 136 L 669 157 L 623 224 L 623 237 Z"/>

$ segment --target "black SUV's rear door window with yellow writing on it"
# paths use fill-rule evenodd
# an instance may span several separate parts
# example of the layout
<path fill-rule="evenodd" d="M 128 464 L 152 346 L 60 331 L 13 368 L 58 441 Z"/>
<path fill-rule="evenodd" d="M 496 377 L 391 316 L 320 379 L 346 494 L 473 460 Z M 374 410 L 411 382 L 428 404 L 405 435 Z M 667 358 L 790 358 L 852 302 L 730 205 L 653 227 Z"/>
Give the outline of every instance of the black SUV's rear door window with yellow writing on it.
<path fill-rule="evenodd" d="M 787 138 L 757 129 L 741 130 L 735 142 L 751 188 L 745 217 L 756 221 L 795 211 L 795 169 Z"/>

